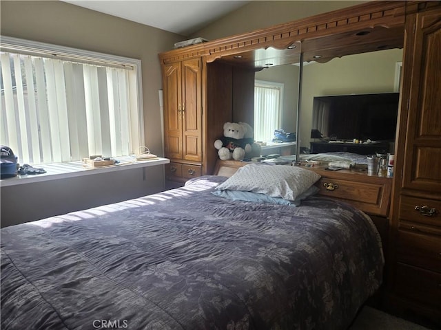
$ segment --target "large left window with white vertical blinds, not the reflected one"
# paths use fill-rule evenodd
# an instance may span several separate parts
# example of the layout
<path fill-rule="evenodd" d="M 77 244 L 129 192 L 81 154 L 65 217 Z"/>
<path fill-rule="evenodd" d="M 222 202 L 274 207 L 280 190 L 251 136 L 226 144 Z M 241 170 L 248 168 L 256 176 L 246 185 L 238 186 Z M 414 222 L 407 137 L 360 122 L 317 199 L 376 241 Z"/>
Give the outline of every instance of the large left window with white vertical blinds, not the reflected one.
<path fill-rule="evenodd" d="M 143 145 L 141 61 L 1 37 L 0 142 L 21 164 Z"/>

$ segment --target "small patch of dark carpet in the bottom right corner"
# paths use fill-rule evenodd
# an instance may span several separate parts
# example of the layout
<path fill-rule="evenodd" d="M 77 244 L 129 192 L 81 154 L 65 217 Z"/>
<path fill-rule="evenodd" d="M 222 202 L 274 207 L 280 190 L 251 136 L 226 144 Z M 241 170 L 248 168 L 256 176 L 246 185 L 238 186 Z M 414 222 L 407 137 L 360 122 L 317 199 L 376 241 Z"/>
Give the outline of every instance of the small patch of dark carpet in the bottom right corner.
<path fill-rule="evenodd" d="M 356 320 L 353 321 L 348 330 L 429 330 L 428 328 L 416 325 L 415 323 L 397 318 L 390 314 L 373 309 L 369 306 L 363 307 Z"/>

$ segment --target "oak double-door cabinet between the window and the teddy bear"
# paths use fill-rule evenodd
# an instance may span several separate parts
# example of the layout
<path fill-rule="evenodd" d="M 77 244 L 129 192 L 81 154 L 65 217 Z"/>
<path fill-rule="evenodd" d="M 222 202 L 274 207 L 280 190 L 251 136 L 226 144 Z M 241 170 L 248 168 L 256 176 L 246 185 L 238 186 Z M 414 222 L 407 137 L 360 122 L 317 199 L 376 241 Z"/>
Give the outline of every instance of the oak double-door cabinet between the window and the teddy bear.
<path fill-rule="evenodd" d="M 213 173 L 218 159 L 214 141 L 222 135 L 225 122 L 252 122 L 255 69 L 207 63 L 206 56 L 183 61 L 160 56 L 164 147 L 165 157 L 170 158 L 165 178 L 167 187 L 174 188 Z M 246 111 L 234 115 L 235 108 Z"/>

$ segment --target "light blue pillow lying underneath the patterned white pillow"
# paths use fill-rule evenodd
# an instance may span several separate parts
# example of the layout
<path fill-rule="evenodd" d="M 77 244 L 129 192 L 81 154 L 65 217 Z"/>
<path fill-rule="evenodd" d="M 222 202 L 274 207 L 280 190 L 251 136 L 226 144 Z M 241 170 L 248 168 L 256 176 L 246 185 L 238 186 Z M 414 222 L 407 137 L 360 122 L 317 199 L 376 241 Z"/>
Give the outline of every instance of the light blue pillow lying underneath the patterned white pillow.
<path fill-rule="evenodd" d="M 305 192 L 302 192 L 302 194 L 300 194 L 295 201 L 288 201 L 287 199 L 283 199 L 281 197 L 270 197 L 265 194 L 251 191 L 214 190 L 212 194 L 218 197 L 231 199 L 232 201 L 252 201 L 255 203 L 273 203 L 280 205 L 300 206 L 300 201 L 309 196 L 316 195 L 318 190 L 320 190 L 318 187 L 310 186 Z"/>

